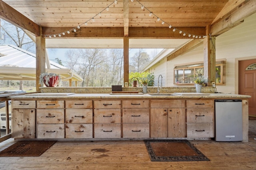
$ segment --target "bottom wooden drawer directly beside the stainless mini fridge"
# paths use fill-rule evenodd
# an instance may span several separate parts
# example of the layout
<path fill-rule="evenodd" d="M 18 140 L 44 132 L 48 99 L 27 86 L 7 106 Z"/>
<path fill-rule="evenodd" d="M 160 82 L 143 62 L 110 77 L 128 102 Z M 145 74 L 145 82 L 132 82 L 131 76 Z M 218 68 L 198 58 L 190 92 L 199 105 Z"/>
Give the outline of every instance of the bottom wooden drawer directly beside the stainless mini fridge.
<path fill-rule="evenodd" d="M 187 137 L 214 137 L 213 123 L 187 123 Z"/>

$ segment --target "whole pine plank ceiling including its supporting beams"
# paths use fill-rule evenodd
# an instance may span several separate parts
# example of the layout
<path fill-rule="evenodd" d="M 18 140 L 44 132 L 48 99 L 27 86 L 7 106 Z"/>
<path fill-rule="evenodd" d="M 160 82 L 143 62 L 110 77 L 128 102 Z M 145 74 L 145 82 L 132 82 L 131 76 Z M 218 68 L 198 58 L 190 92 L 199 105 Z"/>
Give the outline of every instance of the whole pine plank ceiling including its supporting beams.
<path fill-rule="evenodd" d="M 255 4 L 255 0 L 0 0 L 0 17 L 46 39 L 192 39 L 203 38 L 207 26 L 212 35 L 223 33 L 254 13 Z M 234 14 L 239 15 L 233 18 Z"/>

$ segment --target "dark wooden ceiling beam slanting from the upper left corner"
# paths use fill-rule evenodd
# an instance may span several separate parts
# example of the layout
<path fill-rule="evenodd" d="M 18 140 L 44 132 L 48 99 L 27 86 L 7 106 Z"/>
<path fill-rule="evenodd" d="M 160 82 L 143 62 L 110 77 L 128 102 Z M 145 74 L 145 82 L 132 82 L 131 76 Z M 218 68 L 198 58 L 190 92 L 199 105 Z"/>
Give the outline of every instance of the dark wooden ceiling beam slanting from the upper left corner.
<path fill-rule="evenodd" d="M 2 0 L 0 0 L 0 18 L 20 27 L 21 29 L 30 31 L 35 36 L 39 35 L 39 25 L 29 20 Z"/>

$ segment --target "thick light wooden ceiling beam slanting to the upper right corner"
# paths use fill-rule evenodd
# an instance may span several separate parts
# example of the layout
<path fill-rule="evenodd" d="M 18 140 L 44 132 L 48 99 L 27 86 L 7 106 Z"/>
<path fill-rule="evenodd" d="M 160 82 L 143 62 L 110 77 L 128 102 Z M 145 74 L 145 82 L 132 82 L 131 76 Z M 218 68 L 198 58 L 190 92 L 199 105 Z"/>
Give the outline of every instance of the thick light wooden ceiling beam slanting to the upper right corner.
<path fill-rule="evenodd" d="M 246 0 L 210 26 L 210 35 L 218 36 L 256 12 L 256 0 Z"/>

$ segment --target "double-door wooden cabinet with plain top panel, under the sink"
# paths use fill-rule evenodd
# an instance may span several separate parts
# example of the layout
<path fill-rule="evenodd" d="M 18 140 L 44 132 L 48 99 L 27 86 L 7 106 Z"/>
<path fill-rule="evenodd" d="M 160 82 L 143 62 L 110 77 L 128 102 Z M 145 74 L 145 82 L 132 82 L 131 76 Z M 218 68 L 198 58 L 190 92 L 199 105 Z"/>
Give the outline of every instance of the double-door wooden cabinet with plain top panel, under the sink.
<path fill-rule="evenodd" d="M 150 137 L 186 137 L 185 100 L 151 100 Z"/>

